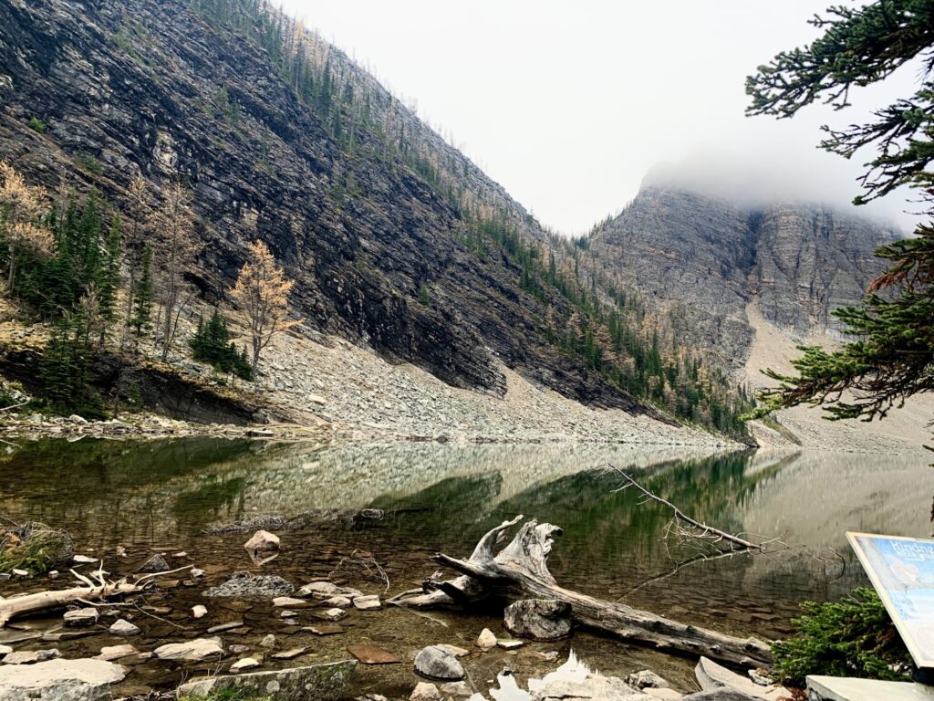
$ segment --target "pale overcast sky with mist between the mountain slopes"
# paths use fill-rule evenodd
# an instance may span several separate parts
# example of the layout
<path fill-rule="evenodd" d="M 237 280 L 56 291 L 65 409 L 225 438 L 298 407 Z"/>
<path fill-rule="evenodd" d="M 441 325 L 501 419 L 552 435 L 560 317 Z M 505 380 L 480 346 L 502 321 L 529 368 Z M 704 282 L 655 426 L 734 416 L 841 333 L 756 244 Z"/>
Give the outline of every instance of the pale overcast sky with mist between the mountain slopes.
<path fill-rule="evenodd" d="M 815 150 L 818 127 L 909 93 L 913 71 L 856 95 L 845 112 L 743 116 L 745 76 L 814 38 L 805 22 L 828 4 L 285 0 L 566 234 L 623 207 L 665 163 L 713 193 L 748 183 L 757 198 L 848 202 L 858 163 Z M 907 224 L 903 207 L 875 212 Z"/>

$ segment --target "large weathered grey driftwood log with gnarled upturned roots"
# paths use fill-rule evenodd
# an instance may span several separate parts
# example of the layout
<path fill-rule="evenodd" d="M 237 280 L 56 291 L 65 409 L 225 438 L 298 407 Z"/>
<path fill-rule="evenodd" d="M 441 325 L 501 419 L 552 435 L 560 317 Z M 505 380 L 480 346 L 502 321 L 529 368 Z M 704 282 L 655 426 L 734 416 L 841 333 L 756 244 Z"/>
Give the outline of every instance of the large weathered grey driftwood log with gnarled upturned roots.
<path fill-rule="evenodd" d="M 432 560 L 460 572 L 461 576 L 446 581 L 430 579 L 422 589 L 398 594 L 389 603 L 415 608 L 452 602 L 466 605 L 505 588 L 533 598 L 565 601 L 571 604 L 575 622 L 624 640 L 661 650 L 705 655 L 731 665 L 771 664 L 771 648 L 757 638 L 726 636 L 559 586 L 547 565 L 553 536 L 561 535 L 558 526 L 534 520 L 526 522 L 513 540 L 494 555 L 493 548 L 502 541 L 504 531 L 521 520 L 522 516 L 517 516 L 493 528 L 480 538 L 474 554 L 467 560 L 440 552 L 434 555 Z"/>

